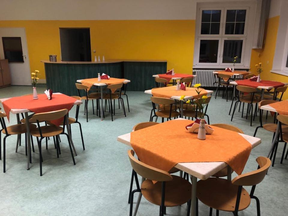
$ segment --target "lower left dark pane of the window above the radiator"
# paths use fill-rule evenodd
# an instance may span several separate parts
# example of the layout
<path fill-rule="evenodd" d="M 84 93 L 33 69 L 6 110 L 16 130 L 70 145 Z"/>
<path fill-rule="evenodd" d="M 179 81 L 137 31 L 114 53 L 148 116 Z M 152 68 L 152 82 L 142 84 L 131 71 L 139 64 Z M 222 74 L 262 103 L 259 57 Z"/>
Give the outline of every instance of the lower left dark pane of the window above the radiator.
<path fill-rule="evenodd" d="M 201 40 L 199 62 L 217 63 L 218 40 Z"/>

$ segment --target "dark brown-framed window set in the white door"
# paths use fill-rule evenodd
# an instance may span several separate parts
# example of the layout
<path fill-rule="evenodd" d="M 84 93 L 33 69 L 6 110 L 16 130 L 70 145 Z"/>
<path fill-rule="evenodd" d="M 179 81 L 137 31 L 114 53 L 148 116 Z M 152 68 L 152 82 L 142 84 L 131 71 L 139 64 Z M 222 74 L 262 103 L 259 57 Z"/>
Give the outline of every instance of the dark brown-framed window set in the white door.
<path fill-rule="evenodd" d="M 2 37 L 2 44 L 8 62 L 24 62 L 21 37 Z"/>

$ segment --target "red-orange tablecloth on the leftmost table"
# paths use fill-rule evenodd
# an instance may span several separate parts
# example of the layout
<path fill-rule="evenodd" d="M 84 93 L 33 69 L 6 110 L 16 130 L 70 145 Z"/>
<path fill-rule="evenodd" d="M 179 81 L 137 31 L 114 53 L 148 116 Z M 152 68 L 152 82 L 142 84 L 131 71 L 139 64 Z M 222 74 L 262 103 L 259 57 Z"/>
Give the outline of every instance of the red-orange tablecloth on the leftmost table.
<path fill-rule="evenodd" d="M 10 98 L 3 102 L 3 108 L 9 121 L 11 109 L 27 109 L 33 113 L 45 113 L 56 110 L 67 109 L 73 107 L 76 99 L 64 94 L 53 94 L 52 100 L 48 100 L 45 94 L 38 95 L 38 100 L 33 99 L 33 95 Z M 63 119 L 52 121 L 55 125 L 60 125 Z"/>

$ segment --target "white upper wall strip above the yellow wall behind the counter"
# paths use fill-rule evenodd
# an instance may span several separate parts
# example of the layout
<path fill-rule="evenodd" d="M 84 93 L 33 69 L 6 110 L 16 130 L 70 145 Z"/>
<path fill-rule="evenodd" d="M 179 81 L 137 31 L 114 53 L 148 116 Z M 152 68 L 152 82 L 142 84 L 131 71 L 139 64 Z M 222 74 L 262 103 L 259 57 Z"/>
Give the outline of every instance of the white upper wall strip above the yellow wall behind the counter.
<path fill-rule="evenodd" d="M 203 1 L 245 0 L 1 0 L 0 20 L 195 19 Z"/>

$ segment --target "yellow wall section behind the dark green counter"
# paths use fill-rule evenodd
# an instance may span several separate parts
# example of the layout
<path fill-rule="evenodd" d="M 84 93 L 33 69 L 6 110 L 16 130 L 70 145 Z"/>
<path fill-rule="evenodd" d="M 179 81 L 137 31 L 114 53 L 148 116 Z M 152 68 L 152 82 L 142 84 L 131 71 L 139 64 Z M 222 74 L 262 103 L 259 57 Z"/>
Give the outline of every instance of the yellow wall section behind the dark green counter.
<path fill-rule="evenodd" d="M 90 27 L 92 61 L 95 49 L 106 60 L 167 60 L 167 69 L 192 73 L 195 20 L 21 20 L 0 21 L 0 27 L 26 29 L 30 69 L 40 70 L 40 79 L 41 60 L 50 54 L 61 60 L 60 27 Z"/>

